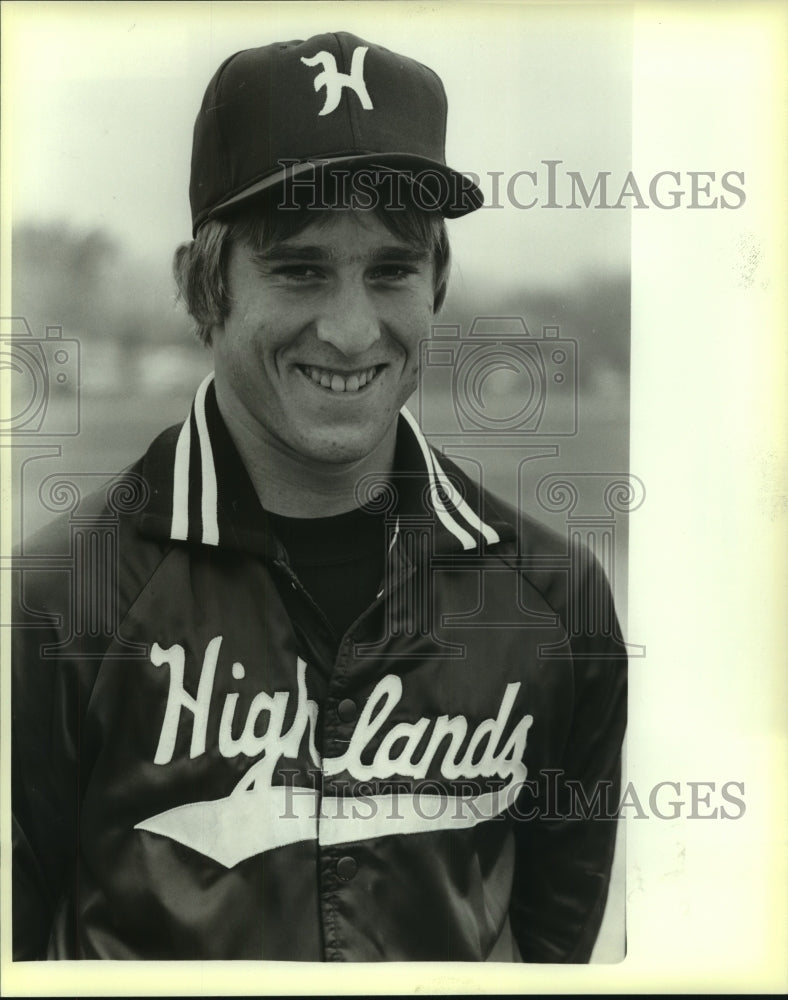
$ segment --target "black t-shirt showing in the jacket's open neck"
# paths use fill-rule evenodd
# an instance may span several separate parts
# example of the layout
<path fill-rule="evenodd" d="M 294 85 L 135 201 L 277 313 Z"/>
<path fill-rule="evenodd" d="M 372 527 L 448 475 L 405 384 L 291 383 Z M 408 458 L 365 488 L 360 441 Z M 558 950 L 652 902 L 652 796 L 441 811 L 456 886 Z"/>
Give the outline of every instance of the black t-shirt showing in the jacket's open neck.
<path fill-rule="evenodd" d="M 290 565 L 333 628 L 337 645 L 379 592 L 385 515 L 365 507 L 333 517 L 268 514 Z"/>

